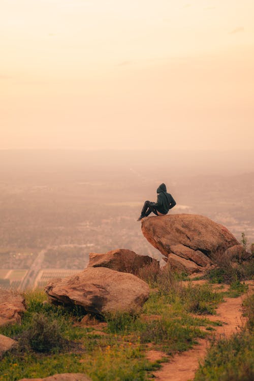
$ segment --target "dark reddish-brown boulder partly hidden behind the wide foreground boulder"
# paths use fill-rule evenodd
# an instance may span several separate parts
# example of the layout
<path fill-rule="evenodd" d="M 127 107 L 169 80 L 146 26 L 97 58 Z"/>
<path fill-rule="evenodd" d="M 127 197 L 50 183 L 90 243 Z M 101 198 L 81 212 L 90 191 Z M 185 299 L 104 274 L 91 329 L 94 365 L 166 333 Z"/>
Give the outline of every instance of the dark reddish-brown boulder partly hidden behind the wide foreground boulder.
<path fill-rule="evenodd" d="M 160 263 L 149 256 L 139 256 L 132 250 L 117 249 L 105 254 L 91 252 L 88 267 L 107 267 L 136 275 L 142 267 L 150 264 L 154 264 L 155 268 L 160 267 Z"/>

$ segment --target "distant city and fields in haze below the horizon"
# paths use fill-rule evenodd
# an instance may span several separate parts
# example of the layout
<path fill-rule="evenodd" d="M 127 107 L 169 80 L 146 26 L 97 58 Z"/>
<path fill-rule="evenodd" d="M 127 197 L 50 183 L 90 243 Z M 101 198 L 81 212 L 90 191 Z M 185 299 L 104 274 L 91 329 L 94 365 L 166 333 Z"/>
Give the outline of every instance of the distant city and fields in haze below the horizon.
<path fill-rule="evenodd" d="M 234 158 L 212 167 L 210 154 L 208 174 L 197 152 L 189 161 L 153 151 L 51 155 L 0 151 L 1 287 L 43 287 L 84 269 L 90 252 L 127 248 L 161 259 L 136 220 L 162 181 L 177 202 L 171 213 L 205 215 L 254 242 L 254 172 L 244 161 L 232 173 Z"/>

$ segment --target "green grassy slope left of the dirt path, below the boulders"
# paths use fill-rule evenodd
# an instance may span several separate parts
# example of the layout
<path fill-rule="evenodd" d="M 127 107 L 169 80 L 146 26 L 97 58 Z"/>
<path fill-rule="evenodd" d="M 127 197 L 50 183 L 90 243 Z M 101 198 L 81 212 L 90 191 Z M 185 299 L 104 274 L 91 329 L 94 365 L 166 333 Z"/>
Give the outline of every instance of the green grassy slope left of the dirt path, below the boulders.
<path fill-rule="evenodd" d="M 198 338 L 211 335 L 219 321 L 210 322 L 202 317 L 214 313 L 223 300 L 222 293 L 214 292 L 211 285 L 183 284 L 182 276 L 159 274 L 153 280 L 153 289 L 143 310 L 138 315 L 114 313 L 105 315 L 104 326 L 82 326 L 84 311 L 54 306 L 45 302 L 41 291 L 25 294 L 27 310 L 21 325 L 1 327 L 0 333 L 25 341 L 27 332 L 39 332 L 33 346 L 34 335 L 28 335 L 28 344 L 6 353 L 1 362 L 0 380 L 16 381 L 23 377 L 46 377 L 55 373 L 80 372 L 100 381 L 147 380 L 152 370 L 160 367 L 146 357 L 147 344 L 168 355 L 186 351 Z M 199 316 L 193 316 L 194 312 Z M 42 327 L 35 325 L 38 316 Z M 39 319 L 39 321 L 41 321 Z M 40 323 L 41 324 L 41 323 Z M 46 336 L 50 325 L 55 325 L 65 345 L 47 346 L 41 350 L 40 334 Z M 57 332 L 56 332 L 57 331 Z M 59 339 L 60 340 L 60 339 Z"/>

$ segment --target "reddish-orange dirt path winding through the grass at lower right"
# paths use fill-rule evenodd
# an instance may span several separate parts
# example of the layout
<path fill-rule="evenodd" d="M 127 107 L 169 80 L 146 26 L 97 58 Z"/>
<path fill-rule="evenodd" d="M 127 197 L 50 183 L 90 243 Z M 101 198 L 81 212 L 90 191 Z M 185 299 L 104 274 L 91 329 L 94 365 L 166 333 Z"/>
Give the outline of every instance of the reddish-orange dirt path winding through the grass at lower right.
<path fill-rule="evenodd" d="M 225 302 L 221 303 L 216 309 L 217 315 L 205 316 L 210 321 L 220 320 L 223 326 L 214 327 L 215 335 L 230 336 L 236 332 L 245 323 L 242 316 L 242 302 L 244 296 L 238 298 L 225 298 Z M 195 345 L 192 350 L 177 354 L 170 360 L 170 363 L 165 363 L 162 368 L 153 372 L 155 379 L 163 381 L 187 381 L 193 379 L 196 370 L 199 366 L 199 361 L 205 355 L 209 341 L 207 339 L 200 339 L 199 344 Z M 155 361 L 163 357 L 163 354 L 157 351 L 149 351 L 147 358 L 150 361 Z M 167 357 L 164 354 L 164 357 Z"/>

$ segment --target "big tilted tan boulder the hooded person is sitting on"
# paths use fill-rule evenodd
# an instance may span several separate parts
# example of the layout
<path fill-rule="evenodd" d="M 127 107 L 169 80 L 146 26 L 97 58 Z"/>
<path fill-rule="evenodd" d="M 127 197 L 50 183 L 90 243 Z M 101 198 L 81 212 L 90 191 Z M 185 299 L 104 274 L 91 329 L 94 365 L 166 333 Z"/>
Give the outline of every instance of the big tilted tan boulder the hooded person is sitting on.
<path fill-rule="evenodd" d="M 172 214 L 142 220 L 145 238 L 168 257 L 168 263 L 187 273 L 203 271 L 216 256 L 239 252 L 241 246 L 223 225 L 197 214 Z"/>

